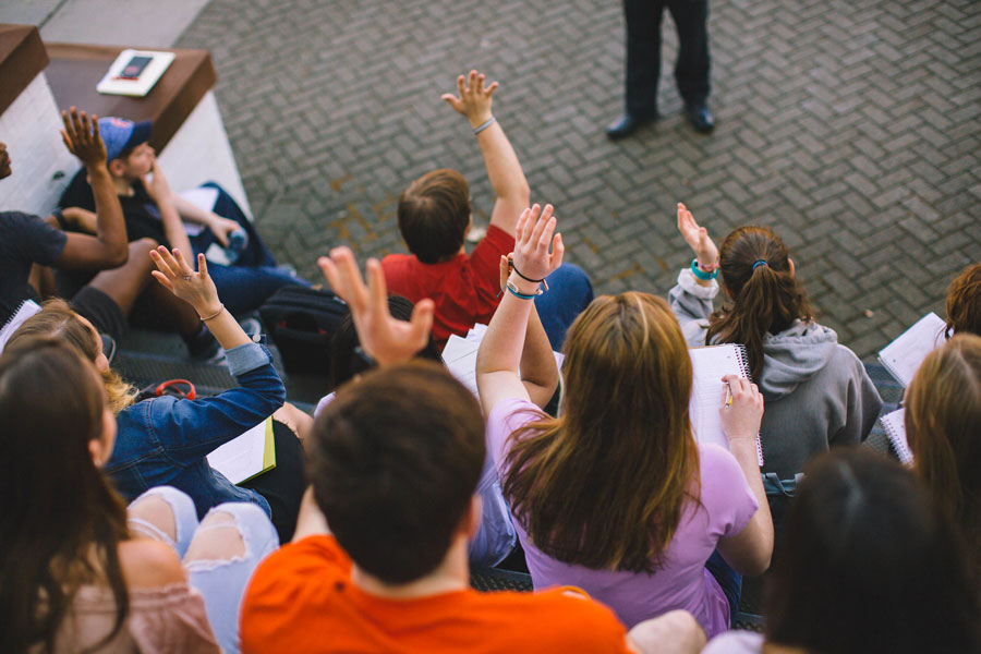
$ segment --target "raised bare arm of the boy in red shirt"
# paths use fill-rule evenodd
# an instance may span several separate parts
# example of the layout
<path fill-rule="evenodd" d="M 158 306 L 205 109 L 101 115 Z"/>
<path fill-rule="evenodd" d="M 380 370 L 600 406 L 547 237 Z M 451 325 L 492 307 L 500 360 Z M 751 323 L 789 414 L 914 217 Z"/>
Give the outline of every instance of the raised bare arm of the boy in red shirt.
<path fill-rule="evenodd" d="M 497 82 L 489 86 L 485 86 L 484 82 L 484 75 L 470 71 L 467 77 L 457 77 L 459 95 L 447 93 L 443 95 L 443 99 L 462 113 L 476 133 L 487 177 L 497 196 L 491 214 L 491 225 L 513 237 L 518 217 L 528 207 L 531 193 L 511 142 L 491 113 L 491 98 L 497 89 Z"/>

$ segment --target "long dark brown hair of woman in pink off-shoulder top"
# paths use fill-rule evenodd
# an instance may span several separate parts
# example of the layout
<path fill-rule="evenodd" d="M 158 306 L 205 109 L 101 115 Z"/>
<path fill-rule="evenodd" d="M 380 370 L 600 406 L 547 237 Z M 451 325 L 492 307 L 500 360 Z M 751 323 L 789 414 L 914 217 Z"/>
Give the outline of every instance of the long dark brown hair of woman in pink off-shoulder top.
<path fill-rule="evenodd" d="M 102 435 L 105 398 L 94 366 L 64 342 L 20 339 L 0 356 L 4 652 L 51 652 L 85 583 L 108 584 L 116 600 L 113 629 L 99 645 L 122 628 L 126 508 L 88 449 Z"/>

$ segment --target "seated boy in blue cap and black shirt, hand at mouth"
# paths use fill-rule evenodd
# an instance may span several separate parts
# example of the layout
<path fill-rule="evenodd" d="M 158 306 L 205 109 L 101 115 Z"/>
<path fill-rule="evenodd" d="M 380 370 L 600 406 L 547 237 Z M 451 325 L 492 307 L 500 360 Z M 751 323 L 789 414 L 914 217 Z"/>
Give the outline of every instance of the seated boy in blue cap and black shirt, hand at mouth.
<path fill-rule="evenodd" d="M 211 243 L 228 246 L 232 232 L 245 230 L 247 243 L 234 264 L 227 266 L 213 262 L 210 266 L 215 286 L 228 310 L 235 316 L 255 311 L 283 286 L 307 283 L 276 266 L 276 259 L 263 244 L 252 222 L 231 196 L 216 184 L 206 184 L 218 191 L 214 211 L 203 210 L 171 191 L 148 143 L 149 122 L 102 118 L 99 128 L 106 138 L 108 169 L 122 203 L 131 240 L 147 237 L 160 245 L 198 254 L 206 252 Z M 81 219 L 84 228 L 85 214 L 77 211 L 77 208 L 93 207 L 92 191 L 84 170 L 72 179 L 59 204 L 65 214 Z M 182 218 L 205 229 L 189 238 Z"/>

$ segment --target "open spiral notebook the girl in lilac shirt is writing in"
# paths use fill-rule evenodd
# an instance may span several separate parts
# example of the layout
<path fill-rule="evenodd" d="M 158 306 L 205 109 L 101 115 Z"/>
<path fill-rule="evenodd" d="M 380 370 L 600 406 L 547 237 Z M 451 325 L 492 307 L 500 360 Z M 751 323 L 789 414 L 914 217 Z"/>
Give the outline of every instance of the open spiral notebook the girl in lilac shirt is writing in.
<path fill-rule="evenodd" d="M 749 360 L 746 348 L 735 343 L 692 348 L 691 355 L 692 385 L 688 413 L 691 427 L 699 443 L 713 443 L 729 449 L 729 441 L 722 431 L 719 407 L 723 403 L 723 391 L 726 385 L 725 375 L 739 375 L 749 379 Z M 756 435 L 756 460 L 763 465 L 763 445 Z"/>

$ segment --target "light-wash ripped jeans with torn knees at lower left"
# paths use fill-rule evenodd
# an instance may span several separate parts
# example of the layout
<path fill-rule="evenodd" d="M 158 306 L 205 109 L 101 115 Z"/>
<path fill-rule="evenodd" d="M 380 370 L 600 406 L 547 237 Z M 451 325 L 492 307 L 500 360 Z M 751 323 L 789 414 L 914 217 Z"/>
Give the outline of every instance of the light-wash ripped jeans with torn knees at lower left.
<path fill-rule="evenodd" d="M 226 502 L 213 508 L 198 522 L 194 501 L 184 493 L 170 486 L 150 488 L 130 505 L 131 509 L 141 500 L 156 496 L 166 501 L 173 513 L 175 537 L 164 533 L 159 525 L 130 518 L 130 529 L 170 545 L 184 564 L 191 577 L 191 585 L 201 592 L 211 630 L 225 652 L 239 651 L 239 614 L 245 586 L 256 566 L 267 555 L 279 547 L 279 538 L 269 518 L 261 508 L 246 502 Z M 192 541 L 218 528 L 227 528 L 228 522 L 218 522 L 213 517 L 226 513 L 244 543 L 241 556 L 228 558 L 187 558 Z M 209 520 L 211 518 L 211 520 Z"/>

